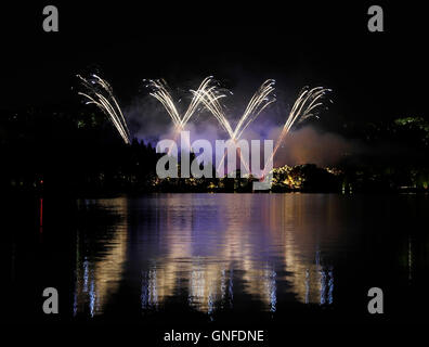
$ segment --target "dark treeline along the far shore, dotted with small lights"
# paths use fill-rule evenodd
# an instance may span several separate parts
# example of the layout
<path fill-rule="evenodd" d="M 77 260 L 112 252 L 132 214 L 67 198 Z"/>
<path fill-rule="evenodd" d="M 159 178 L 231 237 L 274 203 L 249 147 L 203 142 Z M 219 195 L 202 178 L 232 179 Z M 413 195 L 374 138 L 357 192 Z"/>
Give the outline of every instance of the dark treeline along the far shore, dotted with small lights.
<path fill-rule="evenodd" d="M 275 168 L 271 191 L 427 191 L 429 124 L 424 118 L 347 124 L 342 132 L 360 140 L 362 151 L 346 154 L 332 168 Z M 236 179 L 159 179 L 160 154 L 151 143 L 125 144 L 101 112 L 83 105 L 2 111 L 0 155 L 3 193 L 251 192 L 255 181 L 239 174 Z"/>

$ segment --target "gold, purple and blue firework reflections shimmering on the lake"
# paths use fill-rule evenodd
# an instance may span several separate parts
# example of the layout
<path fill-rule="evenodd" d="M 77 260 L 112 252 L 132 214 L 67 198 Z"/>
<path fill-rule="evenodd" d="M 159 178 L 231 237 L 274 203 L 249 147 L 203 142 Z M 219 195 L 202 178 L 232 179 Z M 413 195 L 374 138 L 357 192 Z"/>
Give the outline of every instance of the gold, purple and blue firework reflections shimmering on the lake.
<path fill-rule="evenodd" d="M 161 194 L 80 201 L 118 214 L 103 245 L 78 232 L 75 314 L 101 314 L 121 285 L 141 309 L 168 300 L 212 313 L 238 298 L 276 311 L 280 300 L 335 301 L 336 245 L 347 233 L 335 195 Z M 287 296 L 289 295 L 289 296 Z M 291 296 L 290 296 L 291 295 Z"/>

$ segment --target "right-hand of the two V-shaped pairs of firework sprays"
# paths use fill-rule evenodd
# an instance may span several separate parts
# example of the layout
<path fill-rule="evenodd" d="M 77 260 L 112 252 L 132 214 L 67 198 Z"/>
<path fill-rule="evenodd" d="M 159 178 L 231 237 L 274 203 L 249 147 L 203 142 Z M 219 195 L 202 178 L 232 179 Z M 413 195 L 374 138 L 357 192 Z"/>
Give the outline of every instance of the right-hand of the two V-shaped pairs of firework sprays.
<path fill-rule="evenodd" d="M 247 107 L 243 113 L 242 117 L 239 118 L 237 125 L 235 126 L 235 129 L 231 127 L 230 121 L 224 115 L 218 95 L 212 93 L 211 90 L 200 90 L 199 94 L 202 95 L 202 101 L 205 104 L 206 108 L 209 110 L 211 114 L 219 120 L 222 128 L 230 136 L 230 140 L 232 140 L 234 144 L 236 144 L 246 128 L 262 113 L 263 110 L 265 110 L 271 103 L 275 102 L 275 97 L 273 95 L 275 89 L 274 85 L 274 79 L 268 79 L 259 87 L 259 89 L 255 92 L 249 103 L 247 104 Z M 198 91 L 194 92 L 194 94 L 197 92 Z M 223 155 L 219 167 L 223 165 L 224 158 L 225 154 Z M 244 164 L 247 172 L 250 172 L 248 163 L 246 163 L 246 160 L 242 156 L 240 160 Z"/>

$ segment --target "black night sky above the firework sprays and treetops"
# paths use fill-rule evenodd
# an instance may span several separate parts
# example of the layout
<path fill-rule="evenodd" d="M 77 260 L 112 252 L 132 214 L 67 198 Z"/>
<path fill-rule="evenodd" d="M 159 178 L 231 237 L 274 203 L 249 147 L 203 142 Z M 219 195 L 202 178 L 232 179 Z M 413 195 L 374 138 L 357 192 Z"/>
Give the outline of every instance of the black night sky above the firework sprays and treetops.
<path fill-rule="evenodd" d="M 329 87 L 335 119 L 426 116 L 427 21 L 411 2 L 384 5 L 385 33 L 367 30 L 373 3 L 361 1 L 141 3 L 57 4 L 60 33 L 42 30 L 47 3 L 2 7 L 1 110 L 67 107 L 74 76 L 98 68 L 122 104 L 143 78 L 186 87 L 214 75 L 243 93 L 274 78 L 289 102 L 306 85 Z"/>

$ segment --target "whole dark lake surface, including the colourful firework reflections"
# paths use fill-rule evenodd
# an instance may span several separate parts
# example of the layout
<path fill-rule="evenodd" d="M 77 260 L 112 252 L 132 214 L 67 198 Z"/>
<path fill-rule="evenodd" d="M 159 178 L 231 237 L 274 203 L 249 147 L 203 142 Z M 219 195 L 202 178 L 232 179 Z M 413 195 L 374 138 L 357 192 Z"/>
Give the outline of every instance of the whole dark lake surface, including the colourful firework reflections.
<path fill-rule="evenodd" d="M 3 216 L 6 312 L 17 322 L 172 327 L 419 322 L 428 211 L 427 195 L 16 200 Z M 47 317 L 50 286 L 60 314 Z M 367 312 L 370 287 L 384 291 L 382 316 Z"/>

